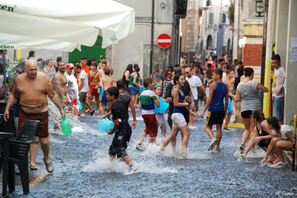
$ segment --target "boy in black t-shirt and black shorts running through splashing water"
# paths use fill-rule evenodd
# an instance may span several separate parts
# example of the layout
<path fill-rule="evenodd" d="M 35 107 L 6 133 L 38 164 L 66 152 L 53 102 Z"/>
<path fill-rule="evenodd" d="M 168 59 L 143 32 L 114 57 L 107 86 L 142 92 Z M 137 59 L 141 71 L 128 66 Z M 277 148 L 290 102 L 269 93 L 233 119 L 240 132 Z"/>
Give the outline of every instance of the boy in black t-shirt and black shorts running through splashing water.
<path fill-rule="evenodd" d="M 127 114 L 122 101 L 117 99 L 118 96 L 118 88 L 109 87 L 106 90 L 106 98 L 109 102 L 112 102 L 111 114 L 114 119 L 114 127 L 108 129 L 109 131 L 107 133 L 112 135 L 115 132 L 108 153 L 111 159 L 114 159 L 115 156 L 117 156 L 117 158 L 123 158 L 129 165 L 129 172 L 127 174 L 132 174 L 136 173 L 137 168 L 133 168 L 132 161 L 126 153 L 132 134 L 132 128 L 128 122 Z"/>

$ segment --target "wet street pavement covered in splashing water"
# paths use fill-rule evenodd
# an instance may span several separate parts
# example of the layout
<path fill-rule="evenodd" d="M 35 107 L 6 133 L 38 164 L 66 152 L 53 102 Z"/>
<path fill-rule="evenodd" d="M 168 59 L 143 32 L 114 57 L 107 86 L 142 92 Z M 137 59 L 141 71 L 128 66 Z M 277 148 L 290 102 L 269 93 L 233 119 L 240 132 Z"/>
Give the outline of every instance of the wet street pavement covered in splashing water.
<path fill-rule="evenodd" d="M 95 106 L 93 104 L 92 106 Z M 52 112 L 57 111 L 50 107 Z M 201 108 L 198 112 L 201 111 Z M 132 116 L 130 114 L 130 122 Z M 199 114 L 198 114 L 199 115 Z M 52 115 L 51 115 L 52 118 Z M 156 145 L 144 152 L 135 149 L 145 128 L 137 109 L 137 128 L 133 130 L 127 153 L 139 168 L 138 174 L 125 175 L 127 165 L 121 159 L 110 162 L 108 149 L 113 135 L 97 128 L 99 115 L 70 119 L 75 125 L 69 136 L 54 131 L 49 125 L 50 157 L 55 170 L 49 174 L 42 151 L 37 156 L 37 171 L 29 170 L 30 194 L 24 196 L 20 178 L 16 191 L 8 198 L 272 198 L 297 197 L 297 173 L 290 166 L 262 167 L 258 162 L 265 153 L 258 147 L 248 153 L 246 162 L 238 159 L 243 129 L 223 131 L 221 152 L 207 151 L 210 138 L 205 119 L 196 119 L 188 145 L 188 158 L 181 158 L 181 138 L 176 153 L 168 145 L 159 153 Z M 52 123 L 52 122 L 50 122 Z M 167 135 L 170 133 L 167 126 Z M 214 131 L 215 132 L 215 131 Z M 160 129 L 157 144 L 161 144 Z"/>

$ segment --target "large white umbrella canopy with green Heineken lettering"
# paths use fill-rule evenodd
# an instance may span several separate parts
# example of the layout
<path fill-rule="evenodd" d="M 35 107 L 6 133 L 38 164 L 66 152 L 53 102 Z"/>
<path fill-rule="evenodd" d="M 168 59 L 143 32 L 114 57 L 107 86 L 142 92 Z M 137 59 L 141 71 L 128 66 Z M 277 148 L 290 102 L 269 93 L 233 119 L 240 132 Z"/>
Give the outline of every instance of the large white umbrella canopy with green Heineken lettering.
<path fill-rule="evenodd" d="M 0 45 L 73 51 L 99 31 L 102 48 L 128 36 L 135 11 L 112 0 L 0 0 L 0 17 Z"/>

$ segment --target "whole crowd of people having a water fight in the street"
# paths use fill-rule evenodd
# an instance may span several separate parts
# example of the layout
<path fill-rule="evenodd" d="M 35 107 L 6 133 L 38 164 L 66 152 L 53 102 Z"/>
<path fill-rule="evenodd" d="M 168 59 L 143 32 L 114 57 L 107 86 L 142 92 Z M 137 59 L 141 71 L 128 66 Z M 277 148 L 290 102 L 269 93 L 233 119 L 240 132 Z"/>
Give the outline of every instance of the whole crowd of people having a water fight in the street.
<path fill-rule="evenodd" d="M 46 67 L 40 72 L 37 62 L 32 60 L 35 52 L 30 52 L 28 60 L 17 65 L 19 72 L 14 78 L 15 83 L 5 109 L 4 119 L 8 118 L 8 110 L 16 102 L 15 121 L 18 131 L 26 119 L 42 121 L 36 133 L 35 146 L 30 148 L 31 169 L 37 169 L 36 145 L 40 142 L 47 170 L 52 172 L 54 167 L 49 158 L 47 96 L 62 116 L 65 115 L 66 106 L 68 113 L 73 117 L 86 116 L 88 112 L 90 116 L 95 113 L 100 114 L 100 119 L 110 119 L 112 115 L 114 127 L 109 129 L 108 134 L 115 133 L 115 135 L 109 148 L 110 158 L 123 158 L 129 165 L 129 172 L 133 173 L 137 168 L 133 167 L 126 149 L 132 128 L 137 126 L 135 111 L 137 103 L 142 111 L 146 128 L 136 149 L 144 151 L 149 144 L 155 143 L 160 127 L 162 144 L 159 152 L 164 151 L 169 143 L 175 151 L 176 137 L 180 131 L 181 157 L 187 158 L 190 129 L 194 127 L 199 106 L 203 108 L 199 117 L 204 118 L 206 113 L 205 129 L 210 138 L 208 150 L 220 152 L 222 129 L 230 130 L 228 124 L 234 107 L 241 102 L 241 117 L 245 125 L 242 144 L 238 148 L 241 156 L 246 158 L 247 153 L 253 151 L 255 144 L 258 144 L 266 152 L 265 158 L 260 162 L 284 163 L 282 150 L 292 150 L 293 128 L 283 125 L 285 72 L 281 67 L 280 56 L 272 57 L 275 117 L 265 119 L 260 110 L 259 91 L 268 92 L 268 88 L 253 80 L 253 69 L 244 67 L 242 62 L 234 60 L 230 67 L 227 58 L 221 54 L 222 63 L 215 64 L 216 61 L 212 59 L 213 50 L 209 51 L 204 67 L 201 66 L 203 57 L 198 52 L 193 57 L 194 61 L 190 63 L 190 67 L 185 67 L 185 64 L 184 67 L 170 65 L 164 72 L 156 64 L 150 77 L 144 79 L 140 76 L 140 67 L 137 64 L 129 64 L 123 73 L 123 78 L 116 81 L 112 78 L 114 70 L 106 62 L 105 56 L 100 56 L 99 64 L 96 58 L 88 60 L 86 56 L 82 56 L 80 62 L 75 65 L 65 64 L 62 57 L 57 57 L 56 63 L 48 59 Z M 241 81 L 243 75 L 245 78 Z M 208 96 L 206 87 L 209 87 Z M 31 94 L 33 92 L 35 94 Z M 96 110 L 91 106 L 92 97 L 96 102 Z M 155 113 L 154 108 L 160 107 L 160 101 L 169 103 L 166 113 Z M 81 112 L 78 109 L 79 103 L 82 104 Z M 132 127 L 128 122 L 129 108 L 133 116 Z M 167 121 L 171 130 L 167 136 L 165 114 L 168 115 Z M 216 136 L 213 129 L 216 130 Z M 144 143 L 146 136 L 148 143 Z M 248 138 L 250 141 L 246 147 Z"/>

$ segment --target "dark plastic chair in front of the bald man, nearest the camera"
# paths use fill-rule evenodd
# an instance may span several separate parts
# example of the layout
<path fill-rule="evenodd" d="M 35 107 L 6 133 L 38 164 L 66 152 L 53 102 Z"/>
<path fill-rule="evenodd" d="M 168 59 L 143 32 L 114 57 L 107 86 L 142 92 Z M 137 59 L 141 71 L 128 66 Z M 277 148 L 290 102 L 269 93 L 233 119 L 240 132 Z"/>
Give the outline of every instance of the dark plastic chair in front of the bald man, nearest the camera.
<path fill-rule="evenodd" d="M 24 195 L 29 193 L 28 152 L 39 122 L 26 120 L 20 133 L 9 140 L 8 189 L 10 192 L 15 190 L 14 164 L 16 163 L 20 171 Z"/>

